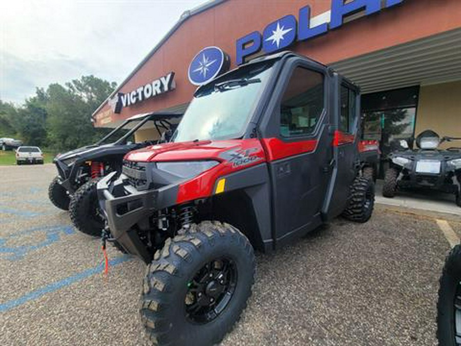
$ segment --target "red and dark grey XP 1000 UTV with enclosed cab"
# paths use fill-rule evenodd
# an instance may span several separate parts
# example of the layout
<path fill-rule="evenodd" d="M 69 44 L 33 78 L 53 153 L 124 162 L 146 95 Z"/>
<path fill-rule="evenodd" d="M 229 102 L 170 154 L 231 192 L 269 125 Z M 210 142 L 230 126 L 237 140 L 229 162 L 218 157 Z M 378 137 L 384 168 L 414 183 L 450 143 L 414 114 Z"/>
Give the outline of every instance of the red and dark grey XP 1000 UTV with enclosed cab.
<path fill-rule="evenodd" d="M 154 344 L 218 343 L 250 296 L 254 249 L 340 214 L 370 218 L 359 123 L 357 86 L 282 52 L 199 87 L 171 143 L 128 153 L 98 182 L 103 240 L 149 264 L 140 313 Z"/>

